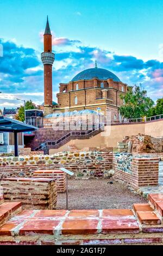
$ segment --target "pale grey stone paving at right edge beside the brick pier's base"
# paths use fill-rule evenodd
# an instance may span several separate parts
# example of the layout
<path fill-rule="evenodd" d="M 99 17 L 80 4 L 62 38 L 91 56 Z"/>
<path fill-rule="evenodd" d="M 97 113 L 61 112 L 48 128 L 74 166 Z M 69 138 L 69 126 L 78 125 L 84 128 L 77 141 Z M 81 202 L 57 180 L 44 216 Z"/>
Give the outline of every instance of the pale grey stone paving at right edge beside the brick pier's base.
<path fill-rule="evenodd" d="M 159 162 L 159 185 L 141 187 L 137 192 L 143 197 L 147 197 L 149 193 L 163 193 L 163 161 Z"/>

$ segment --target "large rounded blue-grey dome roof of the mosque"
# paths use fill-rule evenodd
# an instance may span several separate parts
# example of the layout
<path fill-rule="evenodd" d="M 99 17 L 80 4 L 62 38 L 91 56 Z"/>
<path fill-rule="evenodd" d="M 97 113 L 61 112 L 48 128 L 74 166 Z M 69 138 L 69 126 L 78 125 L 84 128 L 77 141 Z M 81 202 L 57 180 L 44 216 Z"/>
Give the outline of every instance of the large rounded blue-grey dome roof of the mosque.
<path fill-rule="evenodd" d="M 115 82 L 121 82 L 120 78 L 118 78 L 109 70 L 99 69 L 97 67 L 83 70 L 78 75 L 76 75 L 71 81 L 92 80 L 92 78 L 95 77 L 97 77 L 99 80 L 108 80 L 109 78 L 111 78 Z"/>

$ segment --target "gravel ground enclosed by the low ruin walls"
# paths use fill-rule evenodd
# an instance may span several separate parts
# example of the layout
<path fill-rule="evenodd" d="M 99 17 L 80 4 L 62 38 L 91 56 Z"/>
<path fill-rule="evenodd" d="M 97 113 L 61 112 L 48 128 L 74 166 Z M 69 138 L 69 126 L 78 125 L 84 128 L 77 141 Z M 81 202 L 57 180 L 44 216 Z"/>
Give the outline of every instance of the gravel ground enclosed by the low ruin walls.
<path fill-rule="evenodd" d="M 68 210 L 131 209 L 134 203 L 147 203 L 126 185 L 111 179 L 68 180 Z M 57 209 L 66 209 L 66 193 L 58 193 Z"/>

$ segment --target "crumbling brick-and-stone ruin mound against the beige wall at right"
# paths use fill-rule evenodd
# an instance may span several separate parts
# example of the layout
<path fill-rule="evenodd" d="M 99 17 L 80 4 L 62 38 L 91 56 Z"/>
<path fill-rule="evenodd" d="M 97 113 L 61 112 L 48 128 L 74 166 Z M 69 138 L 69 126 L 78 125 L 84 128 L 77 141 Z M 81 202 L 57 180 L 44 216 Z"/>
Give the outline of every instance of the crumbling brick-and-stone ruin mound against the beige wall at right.
<path fill-rule="evenodd" d="M 142 134 L 126 136 L 122 142 L 118 142 L 118 150 L 127 152 L 129 142 L 131 142 L 131 153 L 162 153 L 163 156 L 163 138 L 154 138 Z"/>

